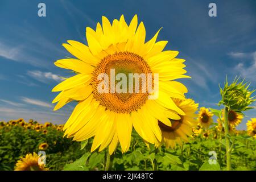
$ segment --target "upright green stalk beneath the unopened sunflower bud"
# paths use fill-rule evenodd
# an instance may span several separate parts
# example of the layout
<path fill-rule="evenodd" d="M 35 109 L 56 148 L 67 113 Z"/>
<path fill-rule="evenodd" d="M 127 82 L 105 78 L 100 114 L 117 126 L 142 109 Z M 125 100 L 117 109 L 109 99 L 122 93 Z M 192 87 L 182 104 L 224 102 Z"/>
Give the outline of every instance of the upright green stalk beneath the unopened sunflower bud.
<path fill-rule="evenodd" d="M 226 169 L 231 170 L 231 148 L 230 148 L 230 138 L 229 135 L 229 121 L 228 121 L 228 107 L 225 106 L 224 109 L 224 130 L 226 139 Z"/>

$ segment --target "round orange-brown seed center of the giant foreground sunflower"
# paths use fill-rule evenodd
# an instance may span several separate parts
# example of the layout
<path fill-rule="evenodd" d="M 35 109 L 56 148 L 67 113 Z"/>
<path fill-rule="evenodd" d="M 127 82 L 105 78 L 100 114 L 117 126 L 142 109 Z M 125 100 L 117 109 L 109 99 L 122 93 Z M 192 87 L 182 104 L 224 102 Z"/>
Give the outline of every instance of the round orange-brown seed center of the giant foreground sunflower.
<path fill-rule="evenodd" d="M 102 79 L 98 78 L 102 73 L 105 73 L 108 80 L 105 80 L 105 77 Z M 123 80 L 123 77 L 117 79 L 117 75 L 120 75 L 119 73 L 125 76 L 126 80 Z M 139 77 L 139 80 L 135 80 L 135 77 L 131 77 L 130 73 L 138 76 L 147 75 L 152 72 L 146 61 L 135 53 L 118 52 L 106 56 L 93 72 L 92 86 L 94 98 L 100 101 L 100 104 L 105 106 L 106 109 L 115 113 L 130 113 L 141 108 L 147 101 L 149 95 L 148 90 L 144 90 L 144 88 L 147 88 L 147 81 L 146 83 L 144 82 L 145 80 L 143 79 L 145 77 Z M 152 83 L 154 82 L 153 79 Z M 98 86 L 102 83 L 102 80 L 106 83 L 104 86 L 101 86 L 106 91 L 104 93 L 98 90 Z M 136 84 L 138 81 L 139 84 Z M 125 84 L 120 84 L 120 82 Z M 122 92 L 115 90 L 117 85 L 122 89 Z"/>

